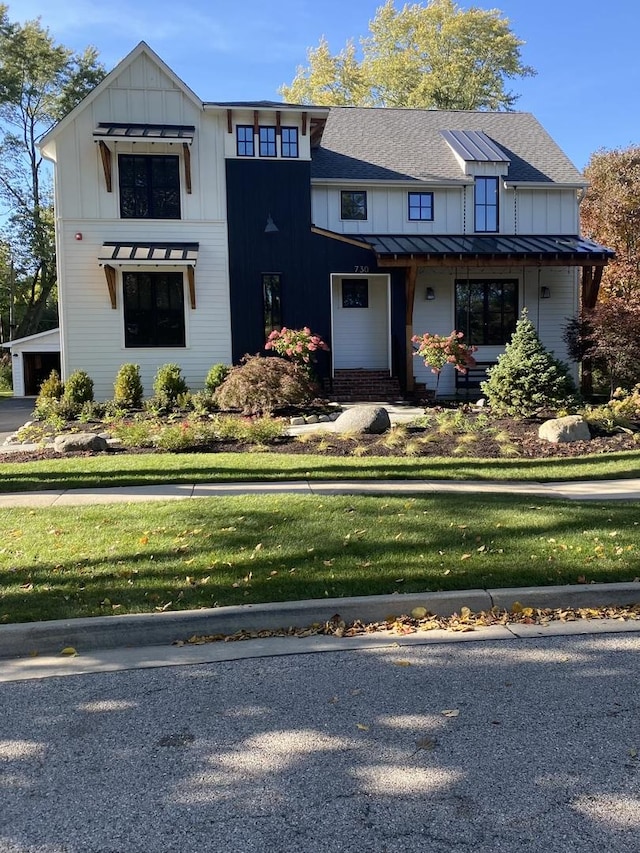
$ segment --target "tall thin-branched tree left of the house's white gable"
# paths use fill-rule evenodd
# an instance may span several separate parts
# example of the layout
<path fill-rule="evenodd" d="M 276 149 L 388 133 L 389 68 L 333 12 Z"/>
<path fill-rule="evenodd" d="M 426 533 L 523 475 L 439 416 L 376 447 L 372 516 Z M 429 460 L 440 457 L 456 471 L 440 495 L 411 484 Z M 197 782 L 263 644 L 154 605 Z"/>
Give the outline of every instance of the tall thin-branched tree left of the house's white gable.
<path fill-rule="evenodd" d="M 94 48 L 74 54 L 39 20 L 12 23 L 0 4 L 0 196 L 16 270 L 14 337 L 38 331 L 55 294 L 51 176 L 38 140 L 105 73 Z"/>

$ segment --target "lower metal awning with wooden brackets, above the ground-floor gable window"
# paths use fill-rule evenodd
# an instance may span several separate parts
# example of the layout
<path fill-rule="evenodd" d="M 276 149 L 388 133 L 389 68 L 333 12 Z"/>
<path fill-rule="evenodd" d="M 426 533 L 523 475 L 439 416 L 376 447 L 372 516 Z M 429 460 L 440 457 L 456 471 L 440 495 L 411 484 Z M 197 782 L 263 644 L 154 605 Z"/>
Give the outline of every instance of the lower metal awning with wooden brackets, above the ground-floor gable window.
<path fill-rule="evenodd" d="M 195 308 L 195 266 L 199 247 L 199 243 L 103 243 L 98 261 L 104 267 L 111 307 L 116 307 L 116 267 L 185 266 L 189 299 L 191 307 Z"/>

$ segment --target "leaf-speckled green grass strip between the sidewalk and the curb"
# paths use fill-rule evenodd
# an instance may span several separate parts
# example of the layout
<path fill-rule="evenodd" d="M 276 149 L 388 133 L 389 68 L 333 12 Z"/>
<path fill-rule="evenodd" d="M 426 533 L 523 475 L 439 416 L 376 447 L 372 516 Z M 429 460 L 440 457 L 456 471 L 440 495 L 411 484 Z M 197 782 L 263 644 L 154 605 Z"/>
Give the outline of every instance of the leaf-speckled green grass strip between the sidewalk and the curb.
<path fill-rule="evenodd" d="M 155 459 L 158 476 L 166 474 L 165 458 Z M 640 574 L 638 519 L 640 503 L 513 495 L 5 509 L 0 621 L 629 581 Z"/>

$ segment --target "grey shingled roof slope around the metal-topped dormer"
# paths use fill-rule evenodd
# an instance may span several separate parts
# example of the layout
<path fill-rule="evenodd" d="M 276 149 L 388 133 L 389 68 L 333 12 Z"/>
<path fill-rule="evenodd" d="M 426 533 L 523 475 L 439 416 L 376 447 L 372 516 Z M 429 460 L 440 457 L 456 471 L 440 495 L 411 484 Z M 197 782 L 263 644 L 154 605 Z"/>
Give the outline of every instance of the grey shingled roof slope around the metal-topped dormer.
<path fill-rule="evenodd" d="M 339 180 L 467 180 L 442 131 L 482 131 L 510 160 L 509 181 L 584 184 L 530 113 L 332 107 L 311 176 Z"/>

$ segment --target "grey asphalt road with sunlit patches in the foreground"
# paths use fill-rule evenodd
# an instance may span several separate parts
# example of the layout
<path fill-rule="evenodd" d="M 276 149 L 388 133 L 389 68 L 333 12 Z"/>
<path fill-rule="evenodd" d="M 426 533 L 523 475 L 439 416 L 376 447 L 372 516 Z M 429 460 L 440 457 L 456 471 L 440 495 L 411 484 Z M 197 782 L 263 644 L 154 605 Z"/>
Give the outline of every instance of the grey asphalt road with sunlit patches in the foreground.
<path fill-rule="evenodd" d="M 640 634 L 0 684 L 2 853 L 633 853 Z"/>

